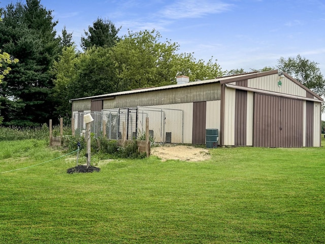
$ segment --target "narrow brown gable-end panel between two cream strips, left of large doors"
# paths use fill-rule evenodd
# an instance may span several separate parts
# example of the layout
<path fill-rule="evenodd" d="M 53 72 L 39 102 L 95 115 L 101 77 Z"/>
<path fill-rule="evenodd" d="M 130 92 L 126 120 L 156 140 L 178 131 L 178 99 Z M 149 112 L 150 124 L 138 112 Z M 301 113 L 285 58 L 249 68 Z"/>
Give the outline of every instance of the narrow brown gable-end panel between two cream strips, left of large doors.
<path fill-rule="evenodd" d="M 235 145 L 246 145 L 247 91 L 236 90 Z"/>

